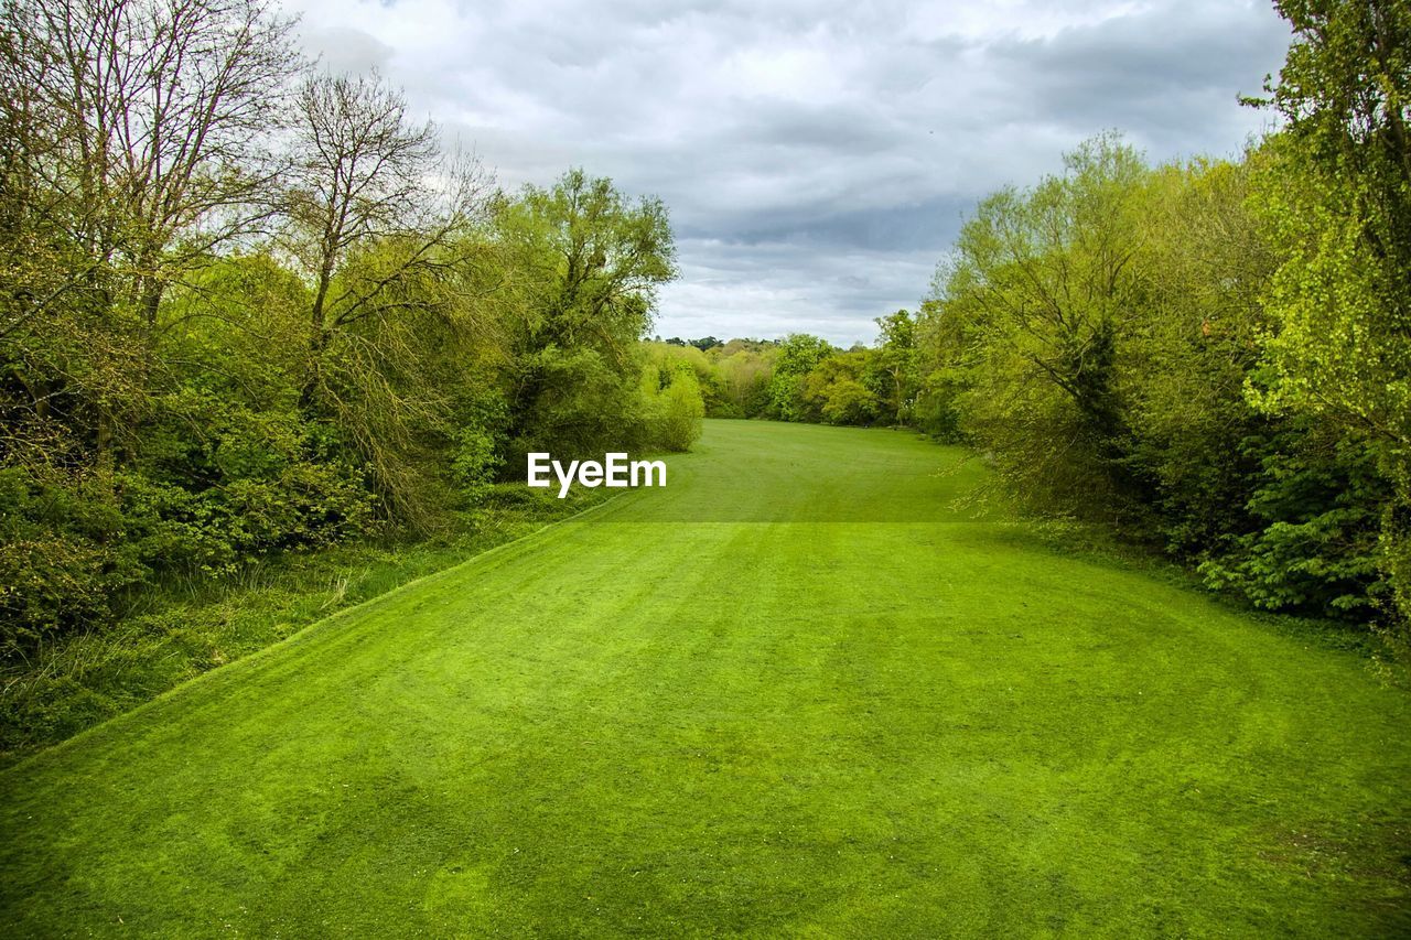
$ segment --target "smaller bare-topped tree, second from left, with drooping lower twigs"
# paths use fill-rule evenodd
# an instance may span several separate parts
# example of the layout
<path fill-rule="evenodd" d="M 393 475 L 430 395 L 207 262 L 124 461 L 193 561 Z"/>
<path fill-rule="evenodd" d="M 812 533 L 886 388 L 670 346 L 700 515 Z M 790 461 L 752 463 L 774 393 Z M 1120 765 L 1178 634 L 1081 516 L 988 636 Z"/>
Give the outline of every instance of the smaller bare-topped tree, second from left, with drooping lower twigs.
<path fill-rule="evenodd" d="M 286 246 L 312 295 L 301 405 L 337 419 L 388 507 L 416 522 L 412 429 L 449 411 L 432 363 L 492 329 L 471 234 L 490 181 L 443 158 L 436 127 L 377 75 L 310 75 L 295 110 Z"/>

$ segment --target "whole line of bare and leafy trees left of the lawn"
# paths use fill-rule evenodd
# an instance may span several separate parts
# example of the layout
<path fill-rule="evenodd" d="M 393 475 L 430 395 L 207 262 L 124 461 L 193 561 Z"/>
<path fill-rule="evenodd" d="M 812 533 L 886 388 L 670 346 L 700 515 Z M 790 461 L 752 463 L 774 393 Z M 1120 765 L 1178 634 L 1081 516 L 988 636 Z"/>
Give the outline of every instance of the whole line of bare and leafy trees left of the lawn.
<path fill-rule="evenodd" d="M 0 653 L 168 572 L 450 524 L 529 450 L 684 449 L 667 210 L 505 193 L 261 0 L 17 0 L 0 38 Z"/>

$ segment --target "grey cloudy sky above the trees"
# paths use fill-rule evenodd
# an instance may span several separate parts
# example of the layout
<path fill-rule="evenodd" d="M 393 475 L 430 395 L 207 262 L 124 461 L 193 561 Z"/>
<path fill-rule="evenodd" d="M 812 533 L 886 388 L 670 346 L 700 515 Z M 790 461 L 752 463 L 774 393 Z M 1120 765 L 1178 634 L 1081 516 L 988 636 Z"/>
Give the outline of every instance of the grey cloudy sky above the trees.
<path fill-rule="evenodd" d="M 288 0 L 501 185 L 569 167 L 672 210 L 662 336 L 871 342 L 985 192 L 1123 131 L 1236 154 L 1288 31 L 1268 0 Z"/>

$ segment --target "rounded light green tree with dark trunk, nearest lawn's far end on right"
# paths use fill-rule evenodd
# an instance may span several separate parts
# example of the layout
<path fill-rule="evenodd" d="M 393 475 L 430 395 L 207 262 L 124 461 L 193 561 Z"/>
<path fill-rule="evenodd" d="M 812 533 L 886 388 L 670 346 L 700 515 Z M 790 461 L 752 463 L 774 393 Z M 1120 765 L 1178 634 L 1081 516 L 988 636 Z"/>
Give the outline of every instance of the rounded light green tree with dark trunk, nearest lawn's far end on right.
<path fill-rule="evenodd" d="M 989 196 L 961 229 L 930 298 L 959 332 L 937 366 L 964 368 L 965 430 L 1016 490 L 1109 512 L 1127 484 L 1116 374 L 1140 309 L 1147 169 L 1112 135 L 1064 162 L 1030 191 Z"/>

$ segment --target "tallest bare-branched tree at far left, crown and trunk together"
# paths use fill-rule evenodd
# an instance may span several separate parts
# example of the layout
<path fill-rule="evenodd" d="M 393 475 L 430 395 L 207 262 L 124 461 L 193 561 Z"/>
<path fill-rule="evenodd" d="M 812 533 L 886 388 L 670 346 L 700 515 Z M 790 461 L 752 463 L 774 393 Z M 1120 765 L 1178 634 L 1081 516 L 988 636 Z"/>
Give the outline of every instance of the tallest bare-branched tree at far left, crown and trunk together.
<path fill-rule="evenodd" d="M 97 347 L 104 332 L 123 364 L 48 363 L 93 402 L 100 453 L 150 391 L 168 288 L 272 215 L 274 133 L 302 68 L 291 25 L 264 0 L 0 7 L 7 247 L 42 253 L 3 270 L 0 339 L 18 361 L 56 333 Z M 121 388 L 92 387 L 114 374 Z"/>

